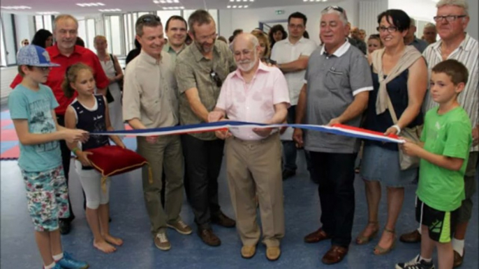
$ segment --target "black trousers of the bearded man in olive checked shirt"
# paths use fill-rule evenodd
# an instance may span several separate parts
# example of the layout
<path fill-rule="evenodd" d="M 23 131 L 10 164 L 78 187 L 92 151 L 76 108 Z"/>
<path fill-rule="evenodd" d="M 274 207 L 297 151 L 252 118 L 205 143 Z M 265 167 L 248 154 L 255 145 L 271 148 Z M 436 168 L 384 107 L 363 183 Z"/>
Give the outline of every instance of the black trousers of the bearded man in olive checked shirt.
<path fill-rule="evenodd" d="M 182 135 L 186 165 L 185 186 L 189 188 L 189 202 L 195 222 L 200 229 L 211 228 L 211 217 L 220 213 L 218 176 L 223 160 L 224 141 L 201 140 L 189 134 Z"/>

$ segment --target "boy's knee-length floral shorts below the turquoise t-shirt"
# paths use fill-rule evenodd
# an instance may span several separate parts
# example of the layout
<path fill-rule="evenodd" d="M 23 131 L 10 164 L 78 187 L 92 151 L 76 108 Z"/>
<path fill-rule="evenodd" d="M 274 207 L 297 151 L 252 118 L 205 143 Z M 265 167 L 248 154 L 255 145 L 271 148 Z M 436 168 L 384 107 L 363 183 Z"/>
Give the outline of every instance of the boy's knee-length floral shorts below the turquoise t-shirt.
<path fill-rule="evenodd" d="M 22 170 L 22 175 L 27 189 L 27 206 L 35 230 L 59 229 L 58 219 L 70 215 L 63 167 L 40 172 Z"/>

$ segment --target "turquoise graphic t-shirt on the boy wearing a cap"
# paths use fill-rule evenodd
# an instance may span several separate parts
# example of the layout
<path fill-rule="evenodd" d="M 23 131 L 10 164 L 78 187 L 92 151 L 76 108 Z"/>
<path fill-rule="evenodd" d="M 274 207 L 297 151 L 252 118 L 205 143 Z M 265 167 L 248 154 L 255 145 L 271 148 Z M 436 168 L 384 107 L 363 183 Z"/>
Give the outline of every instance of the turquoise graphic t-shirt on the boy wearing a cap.
<path fill-rule="evenodd" d="M 56 132 L 52 110 L 58 107 L 52 90 L 40 84 L 38 91 L 32 91 L 18 84 L 8 96 L 8 109 L 13 120 L 26 119 L 29 132 L 47 134 Z M 59 141 L 44 144 L 23 145 L 20 143 L 18 166 L 25 171 L 45 171 L 61 165 Z"/>

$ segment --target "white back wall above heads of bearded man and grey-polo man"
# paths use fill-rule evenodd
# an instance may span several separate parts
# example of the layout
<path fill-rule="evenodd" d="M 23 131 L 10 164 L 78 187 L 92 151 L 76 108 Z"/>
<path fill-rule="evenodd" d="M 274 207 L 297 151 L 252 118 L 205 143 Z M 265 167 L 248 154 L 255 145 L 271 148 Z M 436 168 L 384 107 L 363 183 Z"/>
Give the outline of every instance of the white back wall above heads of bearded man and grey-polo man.
<path fill-rule="evenodd" d="M 344 0 L 334 2 L 334 5 L 341 6 L 346 10 L 348 20 L 353 25 L 358 24 L 358 0 Z M 316 3 L 313 5 L 301 6 L 283 6 L 275 8 L 254 8 L 254 9 L 235 9 L 235 10 L 219 10 L 219 33 L 226 38 L 233 34 L 235 29 L 243 29 L 244 31 L 251 31 L 259 26 L 259 22 L 288 20 L 288 16 L 296 11 L 304 13 L 308 18 L 306 30 L 309 33 L 309 38 L 319 44 L 319 21 L 320 12 L 330 6 L 330 3 Z M 275 10 L 284 10 L 284 14 L 277 15 Z M 274 25 L 274 23 L 272 23 Z"/>

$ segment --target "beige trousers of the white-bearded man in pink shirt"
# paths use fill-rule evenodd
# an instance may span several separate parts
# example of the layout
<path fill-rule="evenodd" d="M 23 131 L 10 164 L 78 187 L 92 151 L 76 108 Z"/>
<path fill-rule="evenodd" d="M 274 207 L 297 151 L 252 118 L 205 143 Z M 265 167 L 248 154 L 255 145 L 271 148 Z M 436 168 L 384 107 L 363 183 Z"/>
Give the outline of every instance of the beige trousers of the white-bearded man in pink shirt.
<path fill-rule="evenodd" d="M 256 245 L 260 229 L 256 221 L 258 194 L 263 243 L 279 246 L 284 236 L 283 180 L 279 134 L 260 141 L 226 140 L 226 165 L 236 226 L 243 245 Z"/>

